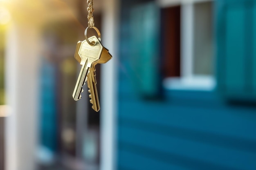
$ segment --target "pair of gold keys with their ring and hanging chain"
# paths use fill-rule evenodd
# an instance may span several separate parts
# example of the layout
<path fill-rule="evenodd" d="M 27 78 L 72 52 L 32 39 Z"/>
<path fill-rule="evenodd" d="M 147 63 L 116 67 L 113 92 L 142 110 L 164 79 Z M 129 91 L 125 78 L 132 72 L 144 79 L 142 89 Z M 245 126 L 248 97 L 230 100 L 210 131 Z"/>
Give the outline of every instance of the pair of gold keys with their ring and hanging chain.
<path fill-rule="evenodd" d="M 108 49 L 105 49 L 100 43 L 101 33 L 94 26 L 94 18 L 92 15 L 94 9 L 92 0 L 87 0 L 87 4 L 88 27 L 85 29 L 85 40 L 83 42 L 79 41 L 76 46 L 75 59 L 82 65 L 82 68 L 76 82 L 73 98 L 74 100 L 81 99 L 81 93 L 83 92 L 82 86 L 87 80 L 90 103 L 92 103 L 92 108 L 98 112 L 100 110 L 100 106 L 96 86 L 95 65 L 98 63 L 103 64 L 108 62 L 112 56 L 108 53 Z M 88 29 L 94 29 L 98 34 L 98 38 L 93 36 L 88 39 Z"/>

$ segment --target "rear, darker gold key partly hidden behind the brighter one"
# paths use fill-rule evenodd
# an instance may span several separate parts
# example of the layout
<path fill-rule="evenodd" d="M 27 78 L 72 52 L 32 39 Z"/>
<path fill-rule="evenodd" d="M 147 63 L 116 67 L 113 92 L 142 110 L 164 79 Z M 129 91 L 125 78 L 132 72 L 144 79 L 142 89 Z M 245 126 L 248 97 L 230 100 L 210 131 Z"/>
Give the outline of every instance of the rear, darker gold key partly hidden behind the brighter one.
<path fill-rule="evenodd" d="M 101 57 L 100 59 L 92 64 L 92 67 L 90 68 L 90 72 L 87 75 L 87 85 L 88 85 L 88 92 L 89 92 L 89 97 L 90 97 L 90 103 L 92 104 L 93 110 L 98 112 L 100 110 L 100 104 L 99 104 L 99 96 L 98 96 L 98 91 L 97 91 L 97 81 L 96 81 L 96 69 L 95 65 L 96 64 L 104 64 L 108 62 L 112 58 L 112 55 L 108 52 L 108 49 L 103 47 Z"/>

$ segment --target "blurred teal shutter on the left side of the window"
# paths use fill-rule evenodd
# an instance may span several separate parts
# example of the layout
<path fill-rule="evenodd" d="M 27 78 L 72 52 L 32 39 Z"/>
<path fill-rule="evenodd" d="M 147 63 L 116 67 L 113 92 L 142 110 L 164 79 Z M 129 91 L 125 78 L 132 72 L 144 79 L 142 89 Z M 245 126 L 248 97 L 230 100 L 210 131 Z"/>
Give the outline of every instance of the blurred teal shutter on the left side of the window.
<path fill-rule="evenodd" d="M 130 24 L 130 72 L 135 89 L 142 97 L 156 97 L 160 89 L 160 10 L 155 2 L 132 7 Z"/>

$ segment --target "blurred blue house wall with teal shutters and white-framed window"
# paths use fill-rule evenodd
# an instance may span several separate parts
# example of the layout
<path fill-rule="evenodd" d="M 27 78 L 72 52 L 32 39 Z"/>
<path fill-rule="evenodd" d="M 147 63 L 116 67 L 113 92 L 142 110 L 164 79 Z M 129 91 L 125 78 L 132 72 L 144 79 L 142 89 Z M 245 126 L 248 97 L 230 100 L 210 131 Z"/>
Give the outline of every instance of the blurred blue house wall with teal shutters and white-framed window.
<path fill-rule="evenodd" d="M 255 0 L 121 3 L 118 170 L 255 170 Z"/>

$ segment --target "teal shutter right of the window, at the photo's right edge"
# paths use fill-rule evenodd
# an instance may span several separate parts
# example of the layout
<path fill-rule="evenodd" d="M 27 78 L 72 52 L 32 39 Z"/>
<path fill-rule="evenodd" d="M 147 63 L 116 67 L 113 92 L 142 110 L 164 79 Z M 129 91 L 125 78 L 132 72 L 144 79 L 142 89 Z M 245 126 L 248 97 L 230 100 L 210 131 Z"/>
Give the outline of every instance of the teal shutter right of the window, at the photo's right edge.
<path fill-rule="evenodd" d="M 227 99 L 256 98 L 255 0 L 218 0 L 217 89 Z"/>

